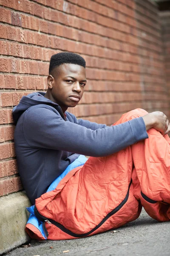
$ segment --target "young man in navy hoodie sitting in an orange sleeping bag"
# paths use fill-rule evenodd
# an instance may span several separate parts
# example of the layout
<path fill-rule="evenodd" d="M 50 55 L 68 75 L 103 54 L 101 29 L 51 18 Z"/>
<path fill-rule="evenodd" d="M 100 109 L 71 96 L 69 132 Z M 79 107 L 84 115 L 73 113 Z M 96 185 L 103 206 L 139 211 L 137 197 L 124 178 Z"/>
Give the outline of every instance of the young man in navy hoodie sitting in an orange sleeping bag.
<path fill-rule="evenodd" d="M 47 81 L 47 92 L 23 96 L 13 116 L 18 171 L 31 203 L 38 198 L 35 214 L 46 221 L 48 239 L 72 239 L 118 227 L 139 216 L 140 202 L 153 218 L 169 220 L 170 124 L 164 113 L 130 111 L 110 127 L 78 120 L 67 109 L 83 96 L 85 60 L 71 52 L 51 57 Z M 165 202 L 164 212 L 157 214 L 160 201 Z M 33 238 L 47 238 L 31 223 L 27 232 Z"/>

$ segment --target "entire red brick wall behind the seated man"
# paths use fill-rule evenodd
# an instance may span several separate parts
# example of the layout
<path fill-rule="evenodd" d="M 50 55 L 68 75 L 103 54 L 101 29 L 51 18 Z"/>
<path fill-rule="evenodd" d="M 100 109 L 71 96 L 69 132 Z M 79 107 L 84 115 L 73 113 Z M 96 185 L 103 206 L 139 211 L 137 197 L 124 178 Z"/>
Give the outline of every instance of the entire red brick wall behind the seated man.
<path fill-rule="evenodd" d="M 149 0 L 0 0 L 0 196 L 22 189 L 11 109 L 45 90 L 50 56 L 87 62 L 86 92 L 70 111 L 112 124 L 134 108 L 168 113 L 158 11 Z"/>

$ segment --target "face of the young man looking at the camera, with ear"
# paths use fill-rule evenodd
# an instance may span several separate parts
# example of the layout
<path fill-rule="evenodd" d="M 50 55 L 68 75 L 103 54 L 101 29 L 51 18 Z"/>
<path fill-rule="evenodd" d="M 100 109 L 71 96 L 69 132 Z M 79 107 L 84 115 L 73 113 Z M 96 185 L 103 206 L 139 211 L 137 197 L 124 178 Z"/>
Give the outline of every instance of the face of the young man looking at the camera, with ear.
<path fill-rule="evenodd" d="M 54 69 L 53 76 L 48 76 L 52 100 L 59 104 L 63 112 L 77 105 L 84 93 L 85 84 L 85 68 L 76 64 L 62 64 Z"/>

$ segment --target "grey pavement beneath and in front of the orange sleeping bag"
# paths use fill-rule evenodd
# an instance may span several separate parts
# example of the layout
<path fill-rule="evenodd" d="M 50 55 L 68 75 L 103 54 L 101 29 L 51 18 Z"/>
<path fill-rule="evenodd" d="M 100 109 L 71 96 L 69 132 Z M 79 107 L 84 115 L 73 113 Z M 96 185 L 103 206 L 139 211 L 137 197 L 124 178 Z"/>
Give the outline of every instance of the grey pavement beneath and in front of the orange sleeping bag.
<path fill-rule="evenodd" d="M 159 223 L 144 210 L 136 221 L 115 231 L 83 239 L 31 241 L 30 247 L 16 248 L 6 256 L 170 256 L 170 222 Z"/>

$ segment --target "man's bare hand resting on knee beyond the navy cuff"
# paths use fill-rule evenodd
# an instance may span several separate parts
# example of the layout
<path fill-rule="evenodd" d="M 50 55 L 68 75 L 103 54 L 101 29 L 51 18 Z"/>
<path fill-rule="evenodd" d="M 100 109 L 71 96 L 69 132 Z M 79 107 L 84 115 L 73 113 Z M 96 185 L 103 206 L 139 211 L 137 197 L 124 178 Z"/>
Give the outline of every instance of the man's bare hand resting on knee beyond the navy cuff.
<path fill-rule="evenodd" d="M 163 112 L 155 111 L 142 117 L 146 125 L 146 130 L 155 128 L 157 131 L 160 131 L 162 135 L 170 132 L 170 122 Z"/>

